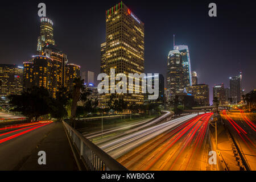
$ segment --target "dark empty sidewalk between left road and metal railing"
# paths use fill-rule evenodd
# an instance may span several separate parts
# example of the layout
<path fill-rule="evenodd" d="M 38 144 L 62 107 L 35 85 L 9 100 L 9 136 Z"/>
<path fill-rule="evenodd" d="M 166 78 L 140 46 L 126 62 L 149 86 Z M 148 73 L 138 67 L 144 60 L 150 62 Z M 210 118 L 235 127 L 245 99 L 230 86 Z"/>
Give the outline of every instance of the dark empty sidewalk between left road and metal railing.
<path fill-rule="evenodd" d="M 67 135 L 61 122 L 51 123 L 52 129 L 46 133 L 39 145 L 18 170 L 21 171 L 73 171 L 78 170 Z M 46 165 L 38 164 L 38 152 L 46 152 Z"/>

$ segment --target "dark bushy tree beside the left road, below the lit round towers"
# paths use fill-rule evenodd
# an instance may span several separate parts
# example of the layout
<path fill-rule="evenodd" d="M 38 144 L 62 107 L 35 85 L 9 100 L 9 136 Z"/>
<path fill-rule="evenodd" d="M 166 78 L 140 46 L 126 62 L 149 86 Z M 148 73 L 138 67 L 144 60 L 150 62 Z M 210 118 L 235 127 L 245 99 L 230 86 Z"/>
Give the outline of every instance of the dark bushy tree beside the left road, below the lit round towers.
<path fill-rule="evenodd" d="M 11 111 L 18 111 L 22 115 L 28 117 L 31 121 L 35 117 L 35 121 L 41 115 L 50 113 L 50 105 L 52 105 L 52 98 L 49 92 L 44 87 L 34 86 L 31 89 L 27 89 L 22 92 L 21 95 L 10 95 L 8 96 L 13 109 Z"/>

